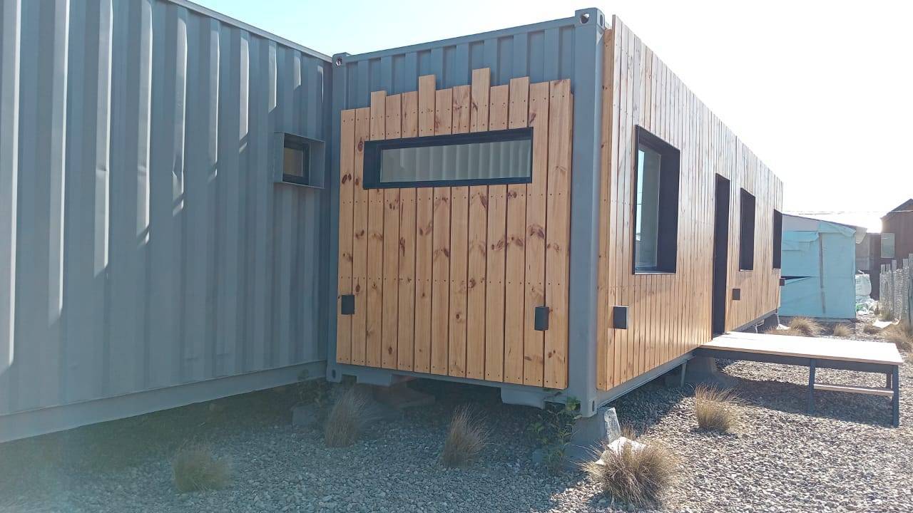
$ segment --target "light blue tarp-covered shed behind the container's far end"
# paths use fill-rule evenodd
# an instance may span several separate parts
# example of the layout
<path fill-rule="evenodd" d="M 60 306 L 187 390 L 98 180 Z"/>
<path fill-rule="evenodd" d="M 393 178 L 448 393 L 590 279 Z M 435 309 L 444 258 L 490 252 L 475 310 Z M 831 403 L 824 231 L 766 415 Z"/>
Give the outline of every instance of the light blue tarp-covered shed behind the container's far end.
<path fill-rule="evenodd" d="M 857 226 L 784 215 L 780 315 L 855 318 L 855 245 L 865 234 Z"/>

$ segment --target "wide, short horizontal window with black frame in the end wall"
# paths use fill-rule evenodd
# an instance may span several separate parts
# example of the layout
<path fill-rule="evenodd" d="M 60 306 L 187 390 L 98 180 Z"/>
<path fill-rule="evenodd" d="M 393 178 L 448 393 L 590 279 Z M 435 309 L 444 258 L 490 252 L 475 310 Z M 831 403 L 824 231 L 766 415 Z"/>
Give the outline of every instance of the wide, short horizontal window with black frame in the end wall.
<path fill-rule="evenodd" d="M 532 182 L 532 129 L 365 141 L 364 188 Z"/>

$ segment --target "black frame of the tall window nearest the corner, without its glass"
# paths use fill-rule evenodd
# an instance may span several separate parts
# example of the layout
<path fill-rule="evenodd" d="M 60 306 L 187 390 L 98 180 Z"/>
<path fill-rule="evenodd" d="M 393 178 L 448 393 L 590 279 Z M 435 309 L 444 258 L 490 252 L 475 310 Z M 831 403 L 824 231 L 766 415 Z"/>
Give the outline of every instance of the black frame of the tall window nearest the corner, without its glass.
<path fill-rule="evenodd" d="M 656 267 L 637 267 L 637 166 L 640 147 L 659 153 L 659 220 L 656 228 Z M 681 152 L 644 127 L 635 127 L 634 167 L 631 194 L 631 272 L 635 275 L 675 274 L 678 260 L 678 184 L 681 179 Z"/>

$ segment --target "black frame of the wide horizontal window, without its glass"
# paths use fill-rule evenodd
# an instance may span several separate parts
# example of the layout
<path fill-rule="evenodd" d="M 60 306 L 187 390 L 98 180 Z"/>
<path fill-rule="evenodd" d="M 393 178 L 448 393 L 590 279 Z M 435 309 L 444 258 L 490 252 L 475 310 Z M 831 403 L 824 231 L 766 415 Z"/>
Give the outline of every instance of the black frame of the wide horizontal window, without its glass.
<path fill-rule="evenodd" d="M 446 135 L 425 135 L 403 139 L 382 139 L 364 141 L 364 168 L 362 186 L 365 189 L 410 189 L 418 187 L 449 187 L 463 185 L 501 185 L 510 183 L 532 183 L 532 128 L 497 131 L 475 131 Z M 413 182 L 382 182 L 381 152 L 401 148 L 423 148 L 429 146 L 453 146 L 477 142 L 530 141 L 530 175 L 508 178 L 468 178 L 460 180 L 417 180 Z"/>

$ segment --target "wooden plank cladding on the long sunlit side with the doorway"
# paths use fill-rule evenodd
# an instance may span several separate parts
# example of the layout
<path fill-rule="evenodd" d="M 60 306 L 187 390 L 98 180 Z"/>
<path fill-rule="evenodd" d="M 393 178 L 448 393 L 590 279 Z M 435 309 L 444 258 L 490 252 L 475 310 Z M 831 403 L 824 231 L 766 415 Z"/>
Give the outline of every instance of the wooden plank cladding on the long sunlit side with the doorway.
<path fill-rule="evenodd" d="M 680 152 L 674 273 L 632 272 L 637 126 Z M 604 35 L 601 147 L 596 384 L 605 391 L 711 340 L 718 174 L 730 183 L 726 329 L 777 308 L 772 214 L 782 183 L 617 17 Z M 739 269 L 740 189 L 756 198 L 750 271 Z M 613 329 L 614 305 L 629 308 L 627 330 Z"/>

